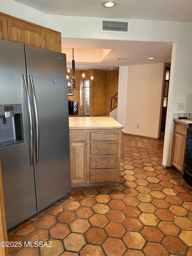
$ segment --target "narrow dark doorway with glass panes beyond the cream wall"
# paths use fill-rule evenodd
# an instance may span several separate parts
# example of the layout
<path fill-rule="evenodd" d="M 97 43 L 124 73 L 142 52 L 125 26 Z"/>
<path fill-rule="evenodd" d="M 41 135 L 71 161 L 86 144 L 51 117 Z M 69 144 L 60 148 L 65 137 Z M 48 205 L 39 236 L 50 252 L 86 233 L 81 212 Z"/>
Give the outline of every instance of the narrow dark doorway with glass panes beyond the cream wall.
<path fill-rule="evenodd" d="M 165 123 L 167 116 L 167 100 L 169 92 L 169 78 L 170 78 L 170 68 L 165 68 L 165 80 L 164 80 L 164 97 L 163 97 L 163 107 L 161 116 L 161 132 L 165 133 Z"/>

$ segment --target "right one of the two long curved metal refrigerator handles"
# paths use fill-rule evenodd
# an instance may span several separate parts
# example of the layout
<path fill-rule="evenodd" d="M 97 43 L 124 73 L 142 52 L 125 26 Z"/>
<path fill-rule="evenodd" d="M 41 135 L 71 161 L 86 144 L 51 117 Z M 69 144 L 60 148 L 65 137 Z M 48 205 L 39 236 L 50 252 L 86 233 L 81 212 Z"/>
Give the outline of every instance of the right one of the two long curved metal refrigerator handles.
<path fill-rule="evenodd" d="M 33 107 L 34 107 L 34 113 L 35 113 L 35 131 L 36 131 L 36 164 L 39 162 L 39 118 L 38 118 L 38 110 L 37 110 L 37 101 L 36 101 L 36 95 L 35 95 L 35 86 L 33 82 L 32 75 L 29 75 L 30 85 L 31 85 L 31 91 L 32 91 L 32 98 L 33 98 Z"/>

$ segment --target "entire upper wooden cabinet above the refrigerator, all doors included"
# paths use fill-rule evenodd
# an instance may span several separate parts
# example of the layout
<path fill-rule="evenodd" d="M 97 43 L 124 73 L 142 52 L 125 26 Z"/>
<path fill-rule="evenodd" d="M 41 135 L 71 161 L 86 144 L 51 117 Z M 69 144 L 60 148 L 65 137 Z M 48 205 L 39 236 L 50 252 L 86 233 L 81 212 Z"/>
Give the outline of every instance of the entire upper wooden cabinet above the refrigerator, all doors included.
<path fill-rule="evenodd" d="M 0 13 L 0 38 L 61 52 L 61 33 Z"/>

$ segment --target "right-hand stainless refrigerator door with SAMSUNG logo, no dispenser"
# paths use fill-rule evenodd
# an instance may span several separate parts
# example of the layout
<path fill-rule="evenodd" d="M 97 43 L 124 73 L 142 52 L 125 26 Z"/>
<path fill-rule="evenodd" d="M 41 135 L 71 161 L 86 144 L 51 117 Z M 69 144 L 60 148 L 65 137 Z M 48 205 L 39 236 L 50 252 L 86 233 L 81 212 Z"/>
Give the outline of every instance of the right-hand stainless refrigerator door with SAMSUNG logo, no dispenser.
<path fill-rule="evenodd" d="M 38 111 L 39 162 L 35 164 L 35 180 L 40 211 L 70 193 L 66 55 L 28 45 L 25 47 L 28 83 L 31 75 Z M 36 146 L 34 141 L 35 162 Z"/>

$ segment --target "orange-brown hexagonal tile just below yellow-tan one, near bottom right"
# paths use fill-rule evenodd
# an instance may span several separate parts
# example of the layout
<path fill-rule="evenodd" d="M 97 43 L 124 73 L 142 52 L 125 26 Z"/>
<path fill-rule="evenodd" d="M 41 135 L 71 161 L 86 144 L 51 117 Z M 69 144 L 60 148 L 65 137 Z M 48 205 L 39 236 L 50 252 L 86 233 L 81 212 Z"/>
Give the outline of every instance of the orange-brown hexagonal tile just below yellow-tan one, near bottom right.
<path fill-rule="evenodd" d="M 164 236 L 157 227 L 146 226 L 143 228 L 141 233 L 148 241 L 152 242 L 161 242 L 161 239 Z"/>

